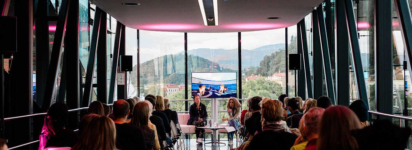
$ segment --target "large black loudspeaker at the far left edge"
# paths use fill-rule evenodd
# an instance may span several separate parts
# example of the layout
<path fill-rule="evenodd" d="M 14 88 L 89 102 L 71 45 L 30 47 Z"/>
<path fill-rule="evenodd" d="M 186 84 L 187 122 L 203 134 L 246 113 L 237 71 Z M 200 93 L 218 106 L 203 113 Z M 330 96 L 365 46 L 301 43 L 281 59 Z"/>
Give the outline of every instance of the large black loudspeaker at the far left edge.
<path fill-rule="evenodd" d="M 17 52 L 17 19 L 11 16 L 0 16 L 0 53 Z"/>

